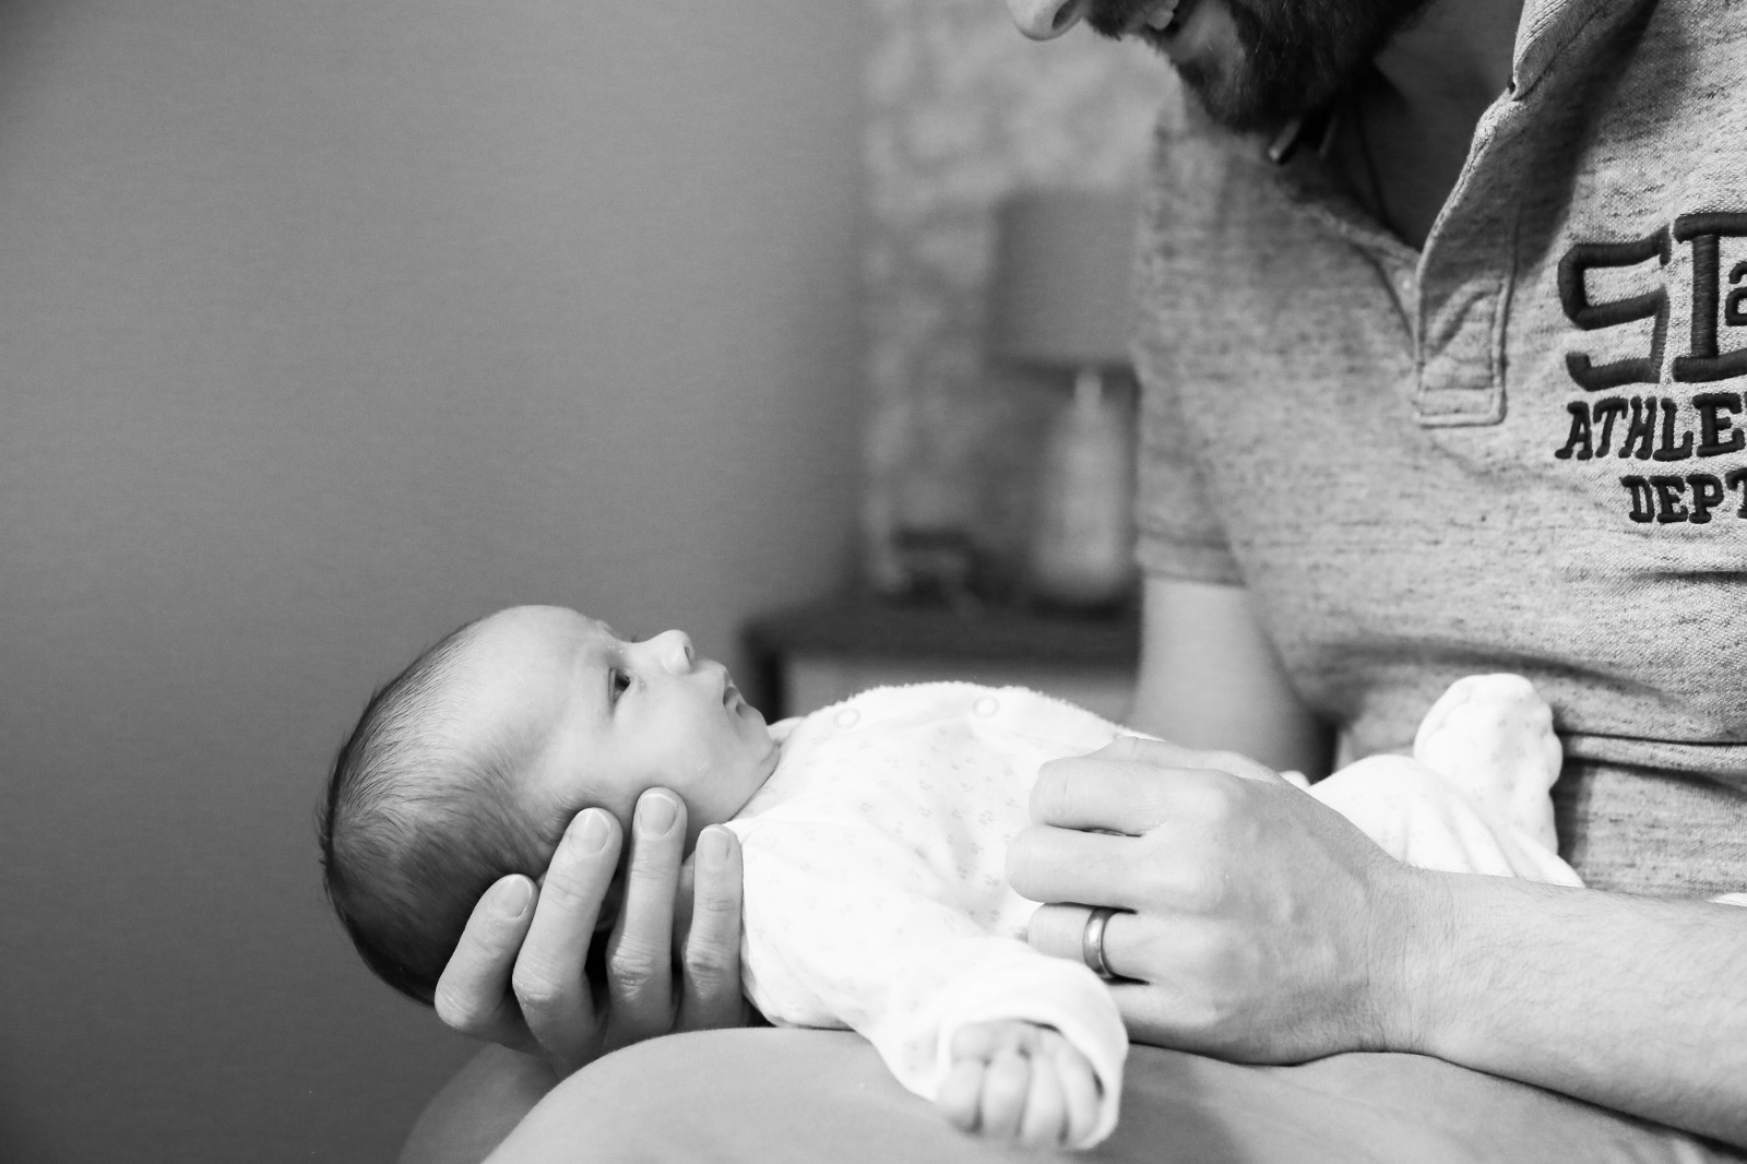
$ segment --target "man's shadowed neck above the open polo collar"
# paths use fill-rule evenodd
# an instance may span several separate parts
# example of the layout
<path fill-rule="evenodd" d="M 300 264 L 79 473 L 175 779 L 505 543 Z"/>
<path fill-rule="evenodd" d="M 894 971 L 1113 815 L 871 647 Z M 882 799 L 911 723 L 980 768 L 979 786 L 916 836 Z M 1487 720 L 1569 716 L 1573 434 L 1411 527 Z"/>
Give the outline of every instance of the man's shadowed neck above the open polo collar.
<path fill-rule="evenodd" d="M 1509 86 L 1522 9 L 1523 0 L 1433 0 L 1377 56 L 1382 84 L 1354 110 L 1356 187 L 1375 185 L 1363 196 L 1413 246 L 1455 187 L 1474 124 Z"/>

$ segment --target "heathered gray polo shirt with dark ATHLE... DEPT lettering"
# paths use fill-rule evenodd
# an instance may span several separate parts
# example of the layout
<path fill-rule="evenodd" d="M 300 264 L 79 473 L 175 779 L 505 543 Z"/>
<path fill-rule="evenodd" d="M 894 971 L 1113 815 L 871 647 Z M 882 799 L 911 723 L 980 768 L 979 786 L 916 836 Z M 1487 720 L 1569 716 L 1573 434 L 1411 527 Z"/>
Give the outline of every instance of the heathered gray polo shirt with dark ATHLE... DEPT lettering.
<path fill-rule="evenodd" d="M 1747 888 L 1747 3 L 1529 0 L 1424 253 L 1160 129 L 1141 561 L 1242 582 L 1354 755 L 1527 675 L 1593 884 Z"/>

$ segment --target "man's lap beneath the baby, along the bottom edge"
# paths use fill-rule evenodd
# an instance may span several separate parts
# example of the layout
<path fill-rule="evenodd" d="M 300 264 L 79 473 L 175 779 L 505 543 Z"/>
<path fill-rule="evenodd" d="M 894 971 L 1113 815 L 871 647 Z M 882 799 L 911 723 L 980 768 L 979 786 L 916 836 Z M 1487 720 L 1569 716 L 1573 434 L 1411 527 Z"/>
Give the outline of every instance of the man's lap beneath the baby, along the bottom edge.
<path fill-rule="evenodd" d="M 549 1161 L 1053 1159 L 950 1127 L 842 1031 L 711 1031 L 652 1040 L 578 1071 L 493 1164 Z M 1396 1054 L 1289 1068 L 1134 1047 L 1116 1133 L 1062 1159 L 1132 1164 L 1564 1164 L 1738 1161 L 1688 1136 L 1536 1087 Z"/>

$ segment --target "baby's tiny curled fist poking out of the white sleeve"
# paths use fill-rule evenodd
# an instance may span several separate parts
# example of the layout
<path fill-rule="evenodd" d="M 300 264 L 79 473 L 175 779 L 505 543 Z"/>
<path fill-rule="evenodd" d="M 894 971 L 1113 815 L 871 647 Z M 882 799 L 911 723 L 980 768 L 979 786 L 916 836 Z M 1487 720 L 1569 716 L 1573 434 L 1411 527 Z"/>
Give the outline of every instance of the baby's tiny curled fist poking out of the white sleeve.
<path fill-rule="evenodd" d="M 1092 1063 L 1053 1028 L 971 1022 L 952 1038 L 952 1070 L 935 1103 L 968 1133 L 1074 1147 L 1097 1126 L 1099 1084 Z"/>

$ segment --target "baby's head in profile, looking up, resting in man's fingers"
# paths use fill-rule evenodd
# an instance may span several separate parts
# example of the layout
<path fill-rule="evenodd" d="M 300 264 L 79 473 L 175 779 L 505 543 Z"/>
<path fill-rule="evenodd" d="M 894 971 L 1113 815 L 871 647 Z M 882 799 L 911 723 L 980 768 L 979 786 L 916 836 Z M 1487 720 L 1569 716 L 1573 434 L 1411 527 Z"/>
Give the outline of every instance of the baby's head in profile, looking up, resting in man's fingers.
<path fill-rule="evenodd" d="M 540 877 L 564 827 L 629 828 L 671 788 L 687 851 L 776 767 L 776 741 L 720 662 L 666 631 L 627 641 L 561 606 L 514 606 L 426 650 L 370 699 L 321 816 L 328 900 L 379 977 L 430 1003 L 498 877 Z"/>

